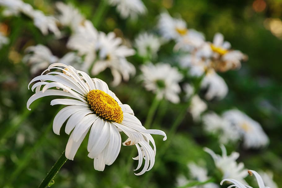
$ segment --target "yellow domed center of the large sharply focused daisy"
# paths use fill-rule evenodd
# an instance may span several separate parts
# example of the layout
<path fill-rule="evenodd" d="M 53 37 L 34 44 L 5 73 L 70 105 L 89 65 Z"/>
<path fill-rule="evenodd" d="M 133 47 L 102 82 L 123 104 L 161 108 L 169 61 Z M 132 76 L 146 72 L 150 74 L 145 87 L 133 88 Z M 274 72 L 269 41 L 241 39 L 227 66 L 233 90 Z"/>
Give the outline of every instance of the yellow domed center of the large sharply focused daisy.
<path fill-rule="evenodd" d="M 123 112 L 117 101 L 101 90 L 91 90 L 87 94 L 87 102 L 92 111 L 107 121 L 121 123 Z"/>

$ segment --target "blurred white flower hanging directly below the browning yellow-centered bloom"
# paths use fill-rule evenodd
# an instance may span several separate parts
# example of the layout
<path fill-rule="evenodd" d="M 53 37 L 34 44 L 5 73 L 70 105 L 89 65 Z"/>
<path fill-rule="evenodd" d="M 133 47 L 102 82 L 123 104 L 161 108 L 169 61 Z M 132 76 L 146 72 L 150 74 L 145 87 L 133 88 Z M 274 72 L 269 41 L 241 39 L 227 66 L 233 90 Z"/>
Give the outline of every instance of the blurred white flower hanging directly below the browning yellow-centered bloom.
<path fill-rule="evenodd" d="M 223 99 L 228 93 L 228 86 L 214 69 L 209 69 L 201 82 L 201 88 L 207 88 L 205 98 L 211 100 L 216 98 Z"/>

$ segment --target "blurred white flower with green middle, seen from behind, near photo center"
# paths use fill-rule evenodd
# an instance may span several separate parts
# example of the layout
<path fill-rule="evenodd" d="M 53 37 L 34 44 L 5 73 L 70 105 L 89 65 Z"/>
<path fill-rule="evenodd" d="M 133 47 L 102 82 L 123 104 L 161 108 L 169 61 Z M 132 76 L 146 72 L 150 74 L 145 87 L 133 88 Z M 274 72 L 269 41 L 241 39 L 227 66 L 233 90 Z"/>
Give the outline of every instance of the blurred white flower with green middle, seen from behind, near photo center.
<path fill-rule="evenodd" d="M 156 94 L 159 100 L 166 98 L 172 103 L 179 103 L 178 94 L 181 92 L 181 88 L 178 82 L 182 80 L 183 76 L 177 68 L 166 63 L 157 63 L 156 65 L 149 63 L 141 65 L 140 69 L 142 71 L 141 79 L 146 90 Z"/>

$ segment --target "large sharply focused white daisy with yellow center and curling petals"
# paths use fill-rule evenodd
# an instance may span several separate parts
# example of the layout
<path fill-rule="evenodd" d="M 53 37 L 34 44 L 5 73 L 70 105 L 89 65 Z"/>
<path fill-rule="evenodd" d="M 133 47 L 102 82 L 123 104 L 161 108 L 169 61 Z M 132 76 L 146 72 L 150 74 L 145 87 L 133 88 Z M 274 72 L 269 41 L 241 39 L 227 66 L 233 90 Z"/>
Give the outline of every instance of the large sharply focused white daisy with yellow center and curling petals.
<path fill-rule="evenodd" d="M 62 70 L 63 73 L 56 71 L 46 73 L 53 69 Z M 46 74 L 43 75 L 44 73 Z M 77 149 L 90 130 L 87 144 L 88 157 L 94 159 L 96 170 L 103 171 L 105 165 L 111 165 L 120 152 L 119 131 L 122 131 L 128 136 L 123 145 L 137 147 L 138 156 L 133 159 L 138 160 L 139 163 L 135 170 L 141 167 L 145 159 L 142 171 L 136 175 L 141 175 L 153 167 L 156 148 L 151 134 L 163 135 L 165 140 L 165 133 L 161 130 L 145 129 L 134 116 L 130 106 L 122 104 L 104 81 L 91 79 L 85 72 L 77 71 L 72 66 L 53 63 L 42 72 L 41 76 L 30 81 L 29 86 L 33 82 L 36 83 L 31 89 L 35 89 L 35 94 L 27 102 L 29 110 L 30 104 L 41 97 L 58 95 L 72 98 L 58 98 L 51 101 L 51 105 L 67 105 L 55 116 L 53 131 L 59 135 L 66 121 L 65 132 L 71 133 L 65 151 L 68 159 L 73 160 Z"/>

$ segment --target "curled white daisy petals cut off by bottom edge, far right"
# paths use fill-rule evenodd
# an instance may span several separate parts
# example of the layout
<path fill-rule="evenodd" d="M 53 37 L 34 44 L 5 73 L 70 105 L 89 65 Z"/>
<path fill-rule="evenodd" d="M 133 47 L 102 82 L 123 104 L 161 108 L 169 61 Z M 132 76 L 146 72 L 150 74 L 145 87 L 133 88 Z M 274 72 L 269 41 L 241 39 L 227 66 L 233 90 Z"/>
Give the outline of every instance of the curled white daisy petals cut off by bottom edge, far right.
<path fill-rule="evenodd" d="M 247 170 L 246 170 L 247 172 Z M 262 177 L 254 170 L 248 170 L 248 173 L 252 176 L 254 175 L 257 179 L 257 182 L 258 182 L 258 187 L 259 188 L 269 188 L 267 186 L 264 185 L 264 182 L 262 180 Z M 236 178 L 234 179 L 230 179 L 230 178 L 227 178 L 227 179 L 223 179 L 221 182 L 220 182 L 220 185 L 223 184 L 224 181 L 228 181 L 228 182 L 231 182 L 232 184 L 234 185 L 231 185 L 229 187 L 238 187 L 238 188 L 253 188 L 249 185 L 244 185 L 241 181 L 238 181 Z M 273 187 L 271 187 L 273 188 Z"/>

